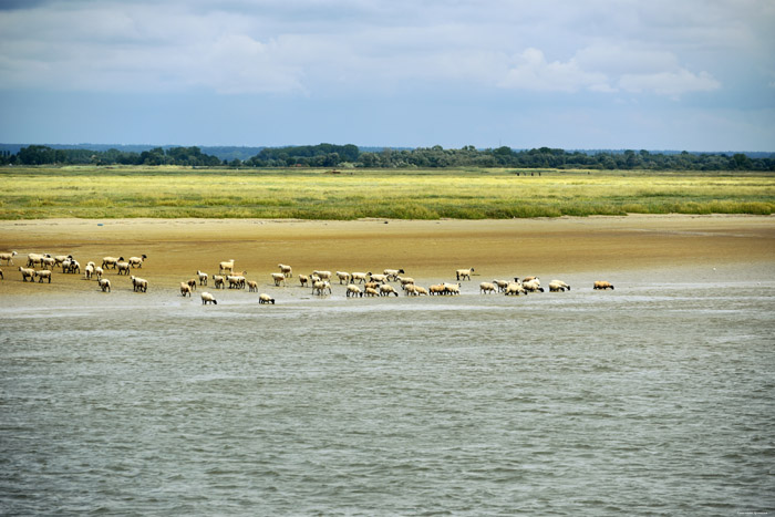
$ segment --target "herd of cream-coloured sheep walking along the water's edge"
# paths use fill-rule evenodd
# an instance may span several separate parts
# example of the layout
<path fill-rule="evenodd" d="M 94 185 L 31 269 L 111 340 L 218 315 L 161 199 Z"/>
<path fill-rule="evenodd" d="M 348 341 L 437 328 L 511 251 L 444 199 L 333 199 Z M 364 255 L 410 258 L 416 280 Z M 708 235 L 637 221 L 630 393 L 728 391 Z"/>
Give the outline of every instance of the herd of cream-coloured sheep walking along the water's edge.
<path fill-rule="evenodd" d="M 13 265 L 13 257 L 17 251 L 0 252 L 0 265 L 4 261 L 6 265 Z M 141 269 L 143 262 L 147 259 L 145 255 L 140 257 L 104 257 L 102 263 L 97 266 L 90 261 L 81 270 L 81 265 L 73 258 L 72 255 L 51 256 L 49 254 L 29 254 L 27 257 L 25 267 L 19 267 L 22 281 L 28 279 L 34 282 L 48 280 L 51 283 L 51 278 L 55 268 L 62 268 L 62 273 L 80 275 L 83 273 L 86 280 L 95 279 L 103 292 L 111 292 L 111 280 L 103 278 L 106 270 L 115 271 L 118 276 L 128 277 L 132 288 L 135 292 L 147 292 L 148 281 L 135 275 L 131 275 L 133 269 Z M 279 272 L 271 273 L 271 280 L 276 287 L 286 287 L 288 279 L 293 277 L 293 269 L 285 263 L 278 265 Z M 385 269 L 382 273 L 369 272 L 348 272 L 348 271 L 326 271 L 316 270 L 310 275 L 298 275 L 297 280 L 301 287 L 311 288 L 312 294 L 324 296 L 331 294 L 331 282 L 339 280 L 339 285 L 345 286 L 345 296 L 352 297 L 390 297 L 399 296 L 399 289 L 406 296 L 456 296 L 461 293 L 461 281 L 471 280 L 474 268 L 458 269 L 455 271 L 456 283 L 442 282 L 435 283 L 427 288 L 417 286 L 413 278 L 405 276 L 403 269 Z M 208 286 L 211 280 L 211 286 L 215 289 L 245 289 L 249 292 L 258 292 L 258 282 L 247 280 L 247 271 L 235 271 L 235 260 L 225 260 L 218 265 L 218 275 L 209 275 L 204 271 L 197 271 L 196 278 L 180 282 L 180 296 L 192 297 L 192 292 L 198 286 Z M 2 269 L 0 269 L 0 279 L 4 279 Z M 397 283 L 397 289 L 392 283 Z M 560 292 L 569 291 L 570 286 L 561 280 L 552 280 L 548 285 L 549 291 Z M 608 281 L 596 281 L 592 286 L 596 290 L 613 289 L 613 286 Z M 492 282 L 480 282 L 479 292 L 504 293 L 505 296 L 528 294 L 530 292 L 544 292 L 540 279 L 538 277 L 526 277 L 523 279 L 514 278 L 514 280 L 493 280 Z M 210 292 L 202 292 L 199 294 L 203 304 L 217 304 L 218 301 Z M 259 303 L 275 303 L 275 299 L 267 293 L 259 294 Z"/>

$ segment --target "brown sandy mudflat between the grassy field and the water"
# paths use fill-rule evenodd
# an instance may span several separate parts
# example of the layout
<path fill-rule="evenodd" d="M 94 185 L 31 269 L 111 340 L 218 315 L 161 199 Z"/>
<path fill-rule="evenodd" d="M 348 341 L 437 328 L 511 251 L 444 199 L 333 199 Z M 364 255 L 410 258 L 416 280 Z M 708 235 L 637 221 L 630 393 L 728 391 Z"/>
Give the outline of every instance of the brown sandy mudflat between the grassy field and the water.
<path fill-rule="evenodd" d="M 403 268 L 416 279 L 474 280 L 538 275 L 589 279 L 717 271 L 775 279 L 775 217 L 642 216 L 510 220 L 43 219 L 0 221 L 2 294 L 30 292 L 17 267 L 28 252 L 72 254 L 81 263 L 104 256 L 148 256 L 143 278 L 175 288 L 200 269 L 234 258 L 248 278 L 269 279 L 278 262 L 294 272 Z M 137 273 L 141 275 L 140 270 Z M 110 273 L 111 276 L 113 273 Z M 676 272 L 678 275 L 678 272 Z M 736 275 L 736 273 L 735 273 Z M 706 279 L 706 277 L 703 277 Z M 83 282 L 58 273 L 46 291 Z"/>

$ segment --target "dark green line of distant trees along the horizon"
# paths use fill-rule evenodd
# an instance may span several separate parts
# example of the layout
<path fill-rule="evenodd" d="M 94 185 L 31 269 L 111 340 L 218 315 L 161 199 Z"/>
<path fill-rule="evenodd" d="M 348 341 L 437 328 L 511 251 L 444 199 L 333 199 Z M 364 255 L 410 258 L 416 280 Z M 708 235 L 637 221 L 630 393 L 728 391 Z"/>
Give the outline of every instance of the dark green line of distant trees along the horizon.
<path fill-rule="evenodd" d="M 207 148 L 208 151 L 210 148 Z M 649 170 L 773 170 L 775 154 L 756 153 L 670 153 L 649 151 L 565 151 L 549 147 L 478 149 L 465 146 L 409 148 L 359 148 L 355 145 L 294 145 L 262 147 L 246 157 L 251 147 L 153 147 L 145 151 L 53 148 L 46 145 L 0 151 L 0 165 L 179 165 L 190 167 L 326 167 L 326 168 L 583 168 Z M 234 149 L 239 149 L 235 152 Z M 220 151 L 220 156 L 215 153 Z M 229 157 L 223 157 L 224 153 Z M 242 158 L 232 157 L 235 154 Z"/>

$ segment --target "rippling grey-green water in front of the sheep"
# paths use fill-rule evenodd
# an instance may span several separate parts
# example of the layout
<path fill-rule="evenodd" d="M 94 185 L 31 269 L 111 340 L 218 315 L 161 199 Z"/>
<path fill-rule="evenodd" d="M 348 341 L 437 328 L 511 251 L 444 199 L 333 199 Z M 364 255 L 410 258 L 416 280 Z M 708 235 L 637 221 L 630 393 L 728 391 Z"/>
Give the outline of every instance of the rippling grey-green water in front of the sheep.
<path fill-rule="evenodd" d="M 775 285 L 0 317 L 0 511 L 775 511 Z"/>

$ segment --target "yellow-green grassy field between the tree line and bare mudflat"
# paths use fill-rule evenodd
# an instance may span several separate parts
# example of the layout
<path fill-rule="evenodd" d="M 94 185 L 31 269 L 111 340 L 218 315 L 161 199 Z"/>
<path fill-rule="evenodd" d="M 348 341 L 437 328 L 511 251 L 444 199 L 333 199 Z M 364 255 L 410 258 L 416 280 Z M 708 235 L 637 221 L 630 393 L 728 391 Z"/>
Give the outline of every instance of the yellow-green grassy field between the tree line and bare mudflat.
<path fill-rule="evenodd" d="M 775 176 L 766 173 L 6 167 L 0 185 L 0 219 L 502 219 L 775 209 Z"/>

